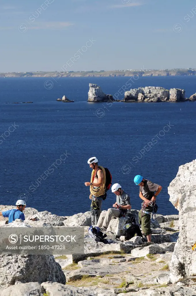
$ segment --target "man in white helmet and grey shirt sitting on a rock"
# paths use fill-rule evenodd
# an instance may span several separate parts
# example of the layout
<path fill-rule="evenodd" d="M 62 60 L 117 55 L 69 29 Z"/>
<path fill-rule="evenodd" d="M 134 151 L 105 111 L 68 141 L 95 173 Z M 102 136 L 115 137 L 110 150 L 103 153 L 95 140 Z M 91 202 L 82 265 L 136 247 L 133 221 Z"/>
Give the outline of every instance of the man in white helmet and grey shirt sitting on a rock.
<path fill-rule="evenodd" d="M 100 214 L 97 226 L 101 231 L 106 231 L 112 218 L 119 218 L 130 212 L 131 204 L 129 195 L 122 190 L 120 184 L 112 185 L 112 192 L 116 195 L 116 202 L 113 208 L 108 209 L 107 212 Z"/>

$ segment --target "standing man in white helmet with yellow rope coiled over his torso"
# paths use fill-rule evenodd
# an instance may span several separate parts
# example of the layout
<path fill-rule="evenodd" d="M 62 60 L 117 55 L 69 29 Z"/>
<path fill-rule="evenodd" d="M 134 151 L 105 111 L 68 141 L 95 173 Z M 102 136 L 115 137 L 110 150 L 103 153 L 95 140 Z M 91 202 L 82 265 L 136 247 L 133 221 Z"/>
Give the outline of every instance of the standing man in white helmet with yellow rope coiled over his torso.
<path fill-rule="evenodd" d="M 90 168 L 92 168 L 91 182 L 85 182 L 85 186 L 90 186 L 89 198 L 92 200 L 91 203 L 91 223 L 96 225 L 101 213 L 102 200 L 105 194 L 105 184 L 104 184 L 104 168 L 100 169 L 98 166 L 97 157 L 91 157 L 88 160 Z M 95 195 L 96 194 L 96 195 Z"/>

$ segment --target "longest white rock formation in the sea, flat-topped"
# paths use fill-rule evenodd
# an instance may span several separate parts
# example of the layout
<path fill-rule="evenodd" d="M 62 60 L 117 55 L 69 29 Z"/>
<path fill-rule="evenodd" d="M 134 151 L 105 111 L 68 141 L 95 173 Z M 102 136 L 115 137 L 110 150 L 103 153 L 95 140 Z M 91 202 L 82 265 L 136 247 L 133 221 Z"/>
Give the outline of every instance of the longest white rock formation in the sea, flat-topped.
<path fill-rule="evenodd" d="M 181 102 L 185 100 L 184 89 L 164 89 L 159 86 L 139 87 L 125 91 L 125 102 Z"/>

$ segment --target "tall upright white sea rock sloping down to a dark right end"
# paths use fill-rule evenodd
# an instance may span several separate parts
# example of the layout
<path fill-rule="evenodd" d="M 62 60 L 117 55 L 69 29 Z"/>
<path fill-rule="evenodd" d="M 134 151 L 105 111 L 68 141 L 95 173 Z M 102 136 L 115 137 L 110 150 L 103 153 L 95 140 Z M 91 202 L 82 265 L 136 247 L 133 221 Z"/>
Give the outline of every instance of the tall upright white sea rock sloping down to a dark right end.
<path fill-rule="evenodd" d="M 97 84 L 89 83 L 88 102 L 113 102 L 111 94 L 104 94 Z"/>

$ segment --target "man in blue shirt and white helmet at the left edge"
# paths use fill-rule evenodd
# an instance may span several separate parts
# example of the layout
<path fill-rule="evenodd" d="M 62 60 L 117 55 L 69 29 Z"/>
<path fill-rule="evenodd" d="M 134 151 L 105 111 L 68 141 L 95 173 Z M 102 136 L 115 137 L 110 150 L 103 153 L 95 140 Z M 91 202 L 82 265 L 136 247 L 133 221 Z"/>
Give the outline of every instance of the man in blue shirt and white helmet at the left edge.
<path fill-rule="evenodd" d="M 24 200 L 17 200 L 16 205 L 16 209 L 0 212 L 0 216 L 9 217 L 8 223 L 11 223 L 16 219 L 25 220 L 25 215 L 22 212 L 25 210 L 26 202 Z"/>

